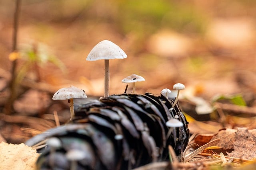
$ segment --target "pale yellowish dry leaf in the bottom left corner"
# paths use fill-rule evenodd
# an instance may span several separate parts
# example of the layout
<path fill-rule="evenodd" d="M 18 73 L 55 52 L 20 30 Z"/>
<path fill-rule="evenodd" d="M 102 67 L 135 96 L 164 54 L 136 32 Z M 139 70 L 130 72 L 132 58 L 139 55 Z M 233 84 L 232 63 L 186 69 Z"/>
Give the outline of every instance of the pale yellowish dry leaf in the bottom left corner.
<path fill-rule="evenodd" d="M 35 170 L 40 154 L 24 143 L 0 143 L 0 170 Z"/>

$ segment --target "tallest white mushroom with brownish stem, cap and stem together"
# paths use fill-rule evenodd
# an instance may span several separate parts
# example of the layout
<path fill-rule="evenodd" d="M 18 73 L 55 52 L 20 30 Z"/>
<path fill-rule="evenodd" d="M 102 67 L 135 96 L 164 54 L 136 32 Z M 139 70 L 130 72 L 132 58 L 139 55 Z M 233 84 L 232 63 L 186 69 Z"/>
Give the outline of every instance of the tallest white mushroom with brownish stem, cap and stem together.
<path fill-rule="evenodd" d="M 126 53 L 118 45 L 108 40 L 100 41 L 88 54 L 87 61 L 103 59 L 105 62 L 104 97 L 109 96 L 109 60 L 125 59 L 126 57 Z"/>

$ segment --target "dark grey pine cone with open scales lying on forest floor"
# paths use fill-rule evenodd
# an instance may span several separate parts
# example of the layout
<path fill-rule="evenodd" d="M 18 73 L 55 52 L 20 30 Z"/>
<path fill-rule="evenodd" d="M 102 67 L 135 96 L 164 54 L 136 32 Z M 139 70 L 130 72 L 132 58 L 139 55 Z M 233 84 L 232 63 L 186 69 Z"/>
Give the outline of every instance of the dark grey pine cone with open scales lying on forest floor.
<path fill-rule="evenodd" d="M 59 146 L 47 146 L 38 158 L 38 169 L 125 170 L 168 159 L 168 145 L 180 156 L 189 139 L 188 122 L 178 104 L 150 93 L 119 94 L 80 105 L 73 120 L 48 130 L 27 145 L 57 137 Z M 166 121 L 178 115 L 182 127 L 169 128 Z M 79 150 L 80 159 L 68 152 Z M 77 154 L 78 155 L 78 154 Z M 73 157 L 72 157 L 73 158 Z"/>

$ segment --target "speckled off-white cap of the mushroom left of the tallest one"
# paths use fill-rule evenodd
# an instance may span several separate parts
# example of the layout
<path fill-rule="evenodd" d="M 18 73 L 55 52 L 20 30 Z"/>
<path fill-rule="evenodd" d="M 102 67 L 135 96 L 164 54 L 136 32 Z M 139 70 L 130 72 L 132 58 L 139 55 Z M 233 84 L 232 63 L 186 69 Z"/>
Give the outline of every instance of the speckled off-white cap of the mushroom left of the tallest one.
<path fill-rule="evenodd" d="M 87 98 L 84 90 L 75 86 L 61 88 L 52 97 L 52 100 L 68 100 L 74 98 Z"/>

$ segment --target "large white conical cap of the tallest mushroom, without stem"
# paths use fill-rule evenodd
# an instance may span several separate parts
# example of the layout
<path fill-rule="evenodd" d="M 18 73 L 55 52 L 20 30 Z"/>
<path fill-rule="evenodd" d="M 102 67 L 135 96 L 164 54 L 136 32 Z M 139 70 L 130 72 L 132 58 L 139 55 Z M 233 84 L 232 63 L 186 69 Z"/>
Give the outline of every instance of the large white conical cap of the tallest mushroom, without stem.
<path fill-rule="evenodd" d="M 101 59 L 125 59 L 126 57 L 126 53 L 124 53 L 118 45 L 111 41 L 103 40 L 92 48 L 86 60 L 96 61 Z"/>

